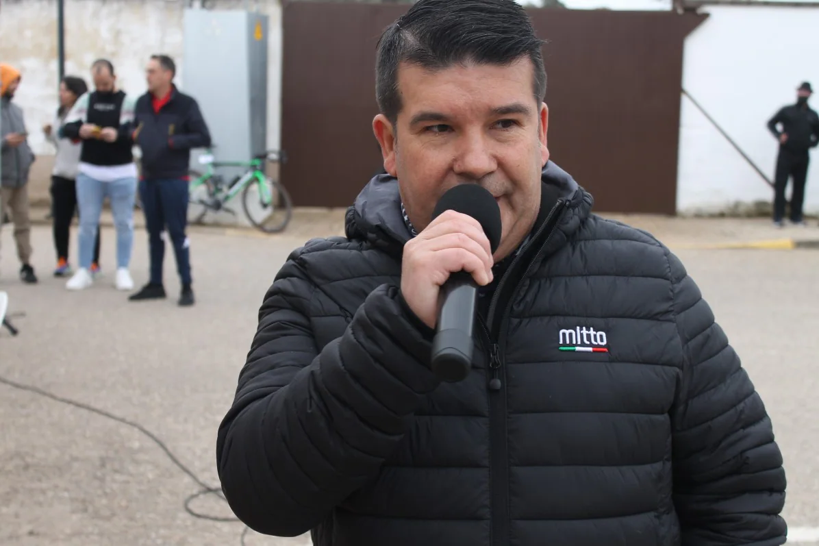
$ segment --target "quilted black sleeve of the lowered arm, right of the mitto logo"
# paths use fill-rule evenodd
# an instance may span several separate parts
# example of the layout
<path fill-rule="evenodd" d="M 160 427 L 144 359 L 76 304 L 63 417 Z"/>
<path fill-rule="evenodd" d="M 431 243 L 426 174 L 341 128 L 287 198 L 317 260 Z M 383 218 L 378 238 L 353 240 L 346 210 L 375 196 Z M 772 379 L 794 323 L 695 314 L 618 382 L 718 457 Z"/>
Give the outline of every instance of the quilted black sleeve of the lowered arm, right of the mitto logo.
<path fill-rule="evenodd" d="M 694 280 L 669 262 L 684 352 L 672 409 L 682 545 L 784 544 L 785 471 L 771 420 Z"/>

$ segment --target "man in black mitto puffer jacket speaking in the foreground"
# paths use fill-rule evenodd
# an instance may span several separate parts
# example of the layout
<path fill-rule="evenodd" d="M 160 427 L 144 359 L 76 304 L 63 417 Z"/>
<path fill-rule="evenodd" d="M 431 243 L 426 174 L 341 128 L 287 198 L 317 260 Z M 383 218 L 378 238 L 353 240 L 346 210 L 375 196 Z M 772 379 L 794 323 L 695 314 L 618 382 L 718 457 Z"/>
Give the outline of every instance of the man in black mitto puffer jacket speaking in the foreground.
<path fill-rule="evenodd" d="M 681 262 L 549 160 L 523 8 L 420 0 L 377 75 L 389 174 L 265 295 L 217 440 L 233 512 L 319 546 L 783 544 L 762 400 Z M 456 184 L 497 198 L 493 255 L 468 216 L 431 221 Z M 438 287 L 461 269 L 475 357 L 441 383 Z"/>

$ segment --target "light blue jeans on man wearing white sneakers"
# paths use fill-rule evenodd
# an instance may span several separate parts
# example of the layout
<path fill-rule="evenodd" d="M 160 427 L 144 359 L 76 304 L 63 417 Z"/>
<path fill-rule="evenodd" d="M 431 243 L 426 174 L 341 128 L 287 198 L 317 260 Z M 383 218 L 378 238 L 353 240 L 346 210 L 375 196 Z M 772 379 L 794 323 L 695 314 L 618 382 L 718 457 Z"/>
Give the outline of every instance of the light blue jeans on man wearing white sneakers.
<path fill-rule="evenodd" d="M 102 202 L 111 202 L 116 227 L 116 266 L 127 268 L 133 248 L 133 202 L 137 179 L 120 178 L 113 182 L 94 180 L 83 173 L 77 176 L 77 207 L 79 208 L 79 266 L 89 269 L 94 253 L 94 241 L 102 214 Z"/>

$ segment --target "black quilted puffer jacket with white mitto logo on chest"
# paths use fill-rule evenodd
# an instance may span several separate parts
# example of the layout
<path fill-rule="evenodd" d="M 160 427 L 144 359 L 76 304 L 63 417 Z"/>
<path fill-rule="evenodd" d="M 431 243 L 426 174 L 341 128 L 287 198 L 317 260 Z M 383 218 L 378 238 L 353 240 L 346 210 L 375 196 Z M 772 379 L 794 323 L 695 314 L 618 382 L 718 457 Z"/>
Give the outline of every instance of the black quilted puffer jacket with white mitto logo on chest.
<path fill-rule="evenodd" d="M 395 180 L 292 253 L 219 428 L 242 521 L 319 546 L 784 543 L 771 421 L 694 281 L 552 163 L 544 182 L 565 199 L 544 191 L 462 383 L 397 288 Z"/>

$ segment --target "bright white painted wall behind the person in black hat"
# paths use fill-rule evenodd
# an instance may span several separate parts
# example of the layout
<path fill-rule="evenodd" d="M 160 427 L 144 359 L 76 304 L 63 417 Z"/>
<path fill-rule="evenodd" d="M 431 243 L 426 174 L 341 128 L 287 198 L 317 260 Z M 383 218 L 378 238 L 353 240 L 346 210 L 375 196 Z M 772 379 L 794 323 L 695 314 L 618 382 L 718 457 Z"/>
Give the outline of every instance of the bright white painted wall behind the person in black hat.
<path fill-rule="evenodd" d="M 819 7 L 708 7 L 686 39 L 683 87 L 773 180 L 776 139 L 767 121 L 796 101 L 803 80 L 819 88 Z M 686 97 L 681 98 L 677 211 L 722 212 L 772 202 L 769 186 Z M 819 110 L 819 93 L 811 106 Z M 819 214 L 819 148 L 805 211 Z M 790 189 L 789 193 L 790 195 Z"/>

